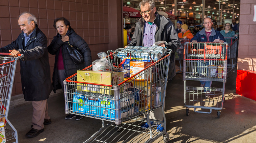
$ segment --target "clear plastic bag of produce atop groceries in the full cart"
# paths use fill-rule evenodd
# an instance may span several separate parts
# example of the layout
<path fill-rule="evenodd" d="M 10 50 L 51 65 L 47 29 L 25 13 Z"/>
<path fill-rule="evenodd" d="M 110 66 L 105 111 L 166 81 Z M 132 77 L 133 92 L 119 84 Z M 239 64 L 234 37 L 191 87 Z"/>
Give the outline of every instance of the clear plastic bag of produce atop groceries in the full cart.
<path fill-rule="evenodd" d="M 93 61 L 93 71 L 112 71 L 112 65 L 106 58 L 108 56 L 105 52 L 97 54 L 100 59 Z"/>

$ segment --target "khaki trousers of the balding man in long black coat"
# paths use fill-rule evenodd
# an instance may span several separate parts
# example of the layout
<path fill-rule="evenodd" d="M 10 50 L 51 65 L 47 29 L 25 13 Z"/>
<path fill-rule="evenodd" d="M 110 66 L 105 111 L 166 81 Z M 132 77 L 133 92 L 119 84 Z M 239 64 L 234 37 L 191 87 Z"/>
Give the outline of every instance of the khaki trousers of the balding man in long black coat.
<path fill-rule="evenodd" d="M 44 119 L 50 119 L 48 116 L 47 100 L 32 101 L 33 115 L 32 125 L 34 129 L 41 130 L 44 128 Z"/>

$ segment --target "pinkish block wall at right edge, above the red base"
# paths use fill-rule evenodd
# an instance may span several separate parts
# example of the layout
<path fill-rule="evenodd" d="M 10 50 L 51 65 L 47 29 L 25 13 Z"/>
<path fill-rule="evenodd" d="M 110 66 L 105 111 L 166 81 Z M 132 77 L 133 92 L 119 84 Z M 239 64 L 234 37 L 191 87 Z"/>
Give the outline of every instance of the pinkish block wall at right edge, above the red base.
<path fill-rule="evenodd" d="M 255 0 L 241 0 L 238 70 L 256 71 L 256 22 L 253 22 Z"/>

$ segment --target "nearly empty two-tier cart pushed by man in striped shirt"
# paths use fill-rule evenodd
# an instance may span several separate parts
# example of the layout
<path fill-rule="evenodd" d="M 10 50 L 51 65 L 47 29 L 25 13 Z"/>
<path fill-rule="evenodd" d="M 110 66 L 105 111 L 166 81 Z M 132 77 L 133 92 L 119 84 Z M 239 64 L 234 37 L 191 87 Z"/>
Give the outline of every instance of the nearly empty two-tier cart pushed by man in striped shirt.
<path fill-rule="evenodd" d="M 183 67 L 186 115 L 189 115 L 189 108 L 194 108 L 194 111 L 198 113 L 208 114 L 214 109 L 217 110 L 217 116 L 220 118 L 225 100 L 227 43 L 186 43 Z M 193 84 L 186 82 L 187 80 L 217 81 L 223 82 L 223 86 L 221 88 L 193 87 Z M 207 91 L 210 92 L 210 98 L 205 96 Z M 196 110 L 198 108 L 201 110 Z M 203 109 L 210 111 L 203 111 Z"/>

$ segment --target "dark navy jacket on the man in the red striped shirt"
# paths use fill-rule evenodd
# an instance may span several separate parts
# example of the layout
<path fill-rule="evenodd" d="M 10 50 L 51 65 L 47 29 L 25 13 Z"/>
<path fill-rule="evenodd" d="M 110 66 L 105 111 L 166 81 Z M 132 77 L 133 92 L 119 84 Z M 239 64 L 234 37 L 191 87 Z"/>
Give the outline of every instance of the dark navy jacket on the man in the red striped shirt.
<path fill-rule="evenodd" d="M 215 39 L 226 41 L 223 37 L 223 35 L 220 33 L 220 31 L 216 31 L 212 28 L 211 36 L 209 37 L 210 42 L 213 42 Z M 203 28 L 201 31 L 197 32 L 197 34 L 190 40 L 197 40 L 198 42 L 206 42 L 206 34 L 205 34 L 205 28 Z"/>

